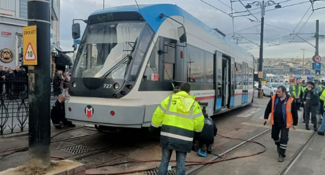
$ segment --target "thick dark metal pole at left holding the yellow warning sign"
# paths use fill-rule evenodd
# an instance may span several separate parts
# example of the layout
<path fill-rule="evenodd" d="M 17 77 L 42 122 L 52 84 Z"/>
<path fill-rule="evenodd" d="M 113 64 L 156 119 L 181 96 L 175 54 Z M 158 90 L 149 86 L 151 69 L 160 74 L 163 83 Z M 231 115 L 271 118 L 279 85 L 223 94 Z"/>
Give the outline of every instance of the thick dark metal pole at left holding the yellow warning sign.
<path fill-rule="evenodd" d="M 49 0 L 27 2 L 28 25 L 36 25 L 37 65 L 28 66 L 29 166 L 50 165 L 51 53 Z"/>

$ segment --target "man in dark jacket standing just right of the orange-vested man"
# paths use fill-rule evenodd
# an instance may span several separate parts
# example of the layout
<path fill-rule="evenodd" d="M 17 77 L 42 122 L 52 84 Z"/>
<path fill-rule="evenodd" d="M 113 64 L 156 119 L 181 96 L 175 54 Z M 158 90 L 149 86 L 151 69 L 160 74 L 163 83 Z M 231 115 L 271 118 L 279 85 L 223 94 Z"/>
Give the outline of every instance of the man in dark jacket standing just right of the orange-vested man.
<path fill-rule="evenodd" d="M 307 82 L 307 89 L 304 93 L 304 96 L 302 98 L 302 101 L 304 101 L 304 107 L 305 107 L 305 124 L 306 124 L 306 130 L 310 130 L 309 128 L 309 118 L 311 116 L 311 122 L 314 125 L 314 130 L 317 131 L 317 118 L 316 118 L 316 112 L 318 107 L 318 92 L 315 89 L 313 81 Z"/>

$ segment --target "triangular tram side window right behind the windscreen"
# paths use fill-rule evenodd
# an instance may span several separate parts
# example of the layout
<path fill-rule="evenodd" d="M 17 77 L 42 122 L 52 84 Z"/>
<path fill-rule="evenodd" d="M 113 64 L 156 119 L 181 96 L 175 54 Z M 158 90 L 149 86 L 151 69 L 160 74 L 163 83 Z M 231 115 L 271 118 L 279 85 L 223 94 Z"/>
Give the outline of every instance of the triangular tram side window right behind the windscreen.
<path fill-rule="evenodd" d="M 155 42 L 156 47 L 153 48 L 153 51 L 150 54 L 148 64 L 146 65 L 146 70 L 144 70 L 144 76 L 142 81 L 159 81 L 159 54 L 158 54 L 158 45 L 159 38 Z"/>

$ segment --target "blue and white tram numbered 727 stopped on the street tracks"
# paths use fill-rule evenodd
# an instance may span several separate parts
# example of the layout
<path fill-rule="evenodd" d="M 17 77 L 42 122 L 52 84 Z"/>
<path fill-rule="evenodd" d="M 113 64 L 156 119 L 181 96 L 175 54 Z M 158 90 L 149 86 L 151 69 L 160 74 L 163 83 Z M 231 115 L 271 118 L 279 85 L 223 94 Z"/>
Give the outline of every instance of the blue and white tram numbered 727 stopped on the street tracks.
<path fill-rule="evenodd" d="M 80 35 L 75 25 L 73 36 Z M 148 127 L 171 82 L 189 82 L 212 116 L 251 103 L 253 65 L 249 52 L 178 6 L 98 10 L 78 49 L 66 117 L 111 129 Z"/>

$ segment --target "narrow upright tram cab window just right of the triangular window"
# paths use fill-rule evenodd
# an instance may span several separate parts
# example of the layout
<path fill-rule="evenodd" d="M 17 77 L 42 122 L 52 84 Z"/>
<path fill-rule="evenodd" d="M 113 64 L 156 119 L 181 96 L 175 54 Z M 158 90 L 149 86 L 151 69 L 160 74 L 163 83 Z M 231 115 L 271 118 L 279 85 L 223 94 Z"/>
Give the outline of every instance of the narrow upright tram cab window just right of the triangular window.
<path fill-rule="evenodd" d="M 174 79 L 175 74 L 175 45 L 164 42 L 164 80 Z"/>

